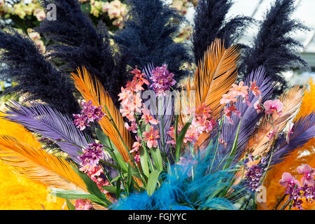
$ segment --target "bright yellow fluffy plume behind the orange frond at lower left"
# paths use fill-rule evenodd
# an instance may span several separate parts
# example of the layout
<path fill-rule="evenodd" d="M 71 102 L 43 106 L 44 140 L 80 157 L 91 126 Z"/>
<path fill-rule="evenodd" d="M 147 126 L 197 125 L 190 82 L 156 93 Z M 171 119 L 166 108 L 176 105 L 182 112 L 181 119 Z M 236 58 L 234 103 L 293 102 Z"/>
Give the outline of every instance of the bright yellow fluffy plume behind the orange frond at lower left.
<path fill-rule="evenodd" d="M 4 116 L 0 113 L 0 116 Z M 0 117 L 0 134 L 15 136 L 18 141 L 38 148 L 41 144 L 25 127 Z M 48 195 L 49 186 L 28 179 L 0 160 L 0 210 L 57 210 L 62 209 L 65 200 Z M 66 208 L 65 208 L 66 209 Z"/>

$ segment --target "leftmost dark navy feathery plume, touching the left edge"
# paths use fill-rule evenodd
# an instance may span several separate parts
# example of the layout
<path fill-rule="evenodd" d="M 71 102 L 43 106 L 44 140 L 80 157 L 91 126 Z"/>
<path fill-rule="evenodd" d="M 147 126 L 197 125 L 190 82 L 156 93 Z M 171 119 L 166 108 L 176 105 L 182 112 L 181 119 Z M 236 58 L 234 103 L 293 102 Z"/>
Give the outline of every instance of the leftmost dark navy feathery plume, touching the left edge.
<path fill-rule="evenodd" d="M 1 76 L 18 83 L 9 91 L 28 93 L 27 99 L 41 99 L 52 108 L 71 115 L 79 111 L 69 78 L 59 73 L 27 37 L 10 30 L 0 31 L 3 49 Z"/>

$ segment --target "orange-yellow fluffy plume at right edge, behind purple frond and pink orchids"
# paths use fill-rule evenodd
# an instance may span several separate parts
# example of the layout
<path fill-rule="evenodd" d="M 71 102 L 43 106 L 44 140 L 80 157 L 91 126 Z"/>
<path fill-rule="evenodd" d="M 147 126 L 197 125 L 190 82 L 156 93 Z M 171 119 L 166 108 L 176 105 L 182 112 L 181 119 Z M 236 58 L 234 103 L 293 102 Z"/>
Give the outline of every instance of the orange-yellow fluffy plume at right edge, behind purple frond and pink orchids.
<path fill-rule="evenodd" d="M 297 114 L 295 121 L 307 116 L 312 111 L 315 111 L 315 83 L 313 80 L 309 81 L 309 91 L 304 92 L 300 111 Z M 302 148 L 297 148 L 290 153 L 283 162 L 280 162 L 269 170 L 263 186 L 267 190 L 267 202 L 265 204 L 258 204 L 258 209 L 274 209 L 280 198 L 283 196 L 285 188 L 279 185 L 279 180 L 282 178 L 284 172 L 289 172 L 296 179 L 300 180 L 302 175 L 297 173 L 297 167 L 303 164 L 308 164 L 315 167 L 315 138 L 309 140 Z M 314 210 L 315 204 L 307 203 L 303 199 L 302 207 L 305 210 Z M 279 205 L 278 209 L 282 204 Z M 296 209 L 296 208 L 292 208 Z"/>

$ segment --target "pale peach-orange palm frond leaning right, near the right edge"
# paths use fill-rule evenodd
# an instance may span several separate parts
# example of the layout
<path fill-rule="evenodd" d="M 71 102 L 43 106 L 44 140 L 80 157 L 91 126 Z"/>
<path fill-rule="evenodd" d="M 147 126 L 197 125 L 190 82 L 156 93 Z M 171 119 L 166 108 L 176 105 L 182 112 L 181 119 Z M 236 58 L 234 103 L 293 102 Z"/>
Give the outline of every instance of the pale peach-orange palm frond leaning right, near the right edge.
<path fill-rule="evenodd" d="M 270 131 L 277 127 L 277 132 L 282 131 L 288 121 L 293 120 L 296 116 L 296 112 L 300 109 L 304 94 L 304 89 L 300 87 L 293 87 L 290 90 L 286 90 L 279 100 L 283 103 L 283 112 L 279 116 L 274 113 L 269 120 L 266 117 L 262 118 L 260 125 L 256 129 L 253 136 L 248 142 L 247 148 L 251 149 L 252 155 L 260 155 L 260 153 L 266 153 L 271 147 L 272 142 L 269 141 L 268 134 Z M 274 123 L 272 125 L 271 123 Z"/>

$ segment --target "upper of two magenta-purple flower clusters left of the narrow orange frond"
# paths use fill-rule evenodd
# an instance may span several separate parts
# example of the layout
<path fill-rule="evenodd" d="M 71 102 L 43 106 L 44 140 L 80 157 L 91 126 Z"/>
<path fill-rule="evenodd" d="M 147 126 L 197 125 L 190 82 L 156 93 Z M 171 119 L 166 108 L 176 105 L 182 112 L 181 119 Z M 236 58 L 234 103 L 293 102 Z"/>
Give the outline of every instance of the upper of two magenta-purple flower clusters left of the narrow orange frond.
<path fill-rule="evenodd" d="M 99 121 L 104 116 L 104 113 L 102 112 L 102 106 L 93 106 L 92 100 L 82 104 L 83 109 L 80 114 L 73 114 L 73 117 L 75 118 L 73 123 L 76 125 L 76 127 L 80 128 L 81 131 L 85 130 L 86 126 L 89 126 L 88 123 L 94 121 Z"/>

